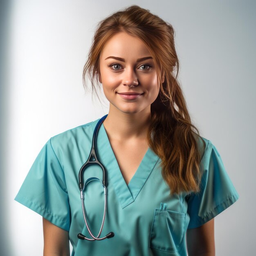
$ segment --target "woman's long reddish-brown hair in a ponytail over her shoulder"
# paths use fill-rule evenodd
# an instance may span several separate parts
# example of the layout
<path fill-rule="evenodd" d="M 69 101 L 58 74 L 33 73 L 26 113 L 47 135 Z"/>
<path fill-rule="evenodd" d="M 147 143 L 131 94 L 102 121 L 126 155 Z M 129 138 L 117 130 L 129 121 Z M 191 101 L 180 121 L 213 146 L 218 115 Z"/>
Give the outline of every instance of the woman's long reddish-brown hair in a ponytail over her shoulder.
<path fill-rule="evenodd" d="M 83 69 L 83 85 L 86 88 L 85 77 L 88 73 L 93 92 L 94 79 L 97 82 L 99 79 L 101 50 L 106 41 L 119 32 L 140 38 L 155 62 L 160 89 L 157 99 L 151 104 L 147 140 L 150 148 L 162 160 L 162 176 L 170 187 L 170 193 L 198 192 L 205 142 L 198 129 L 191 124 L 182 89 L 177 81 L 179 61 L 174 45 L 174 30 L 168 22 L 137 5 L 131 5 L 101 20 Z M 164 83 L 161 81 L 162 71 L 165 74 Z M 203 142 L 203 147 L 199 140 Z"/>

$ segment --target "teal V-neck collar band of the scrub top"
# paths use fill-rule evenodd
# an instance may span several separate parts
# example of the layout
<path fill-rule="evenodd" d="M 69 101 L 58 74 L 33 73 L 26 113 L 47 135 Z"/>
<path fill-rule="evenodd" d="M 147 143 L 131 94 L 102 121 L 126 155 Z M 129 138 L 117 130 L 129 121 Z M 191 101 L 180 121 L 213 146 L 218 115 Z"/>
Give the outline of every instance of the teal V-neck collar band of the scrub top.
<path fill-rule="evenodd" d="M 95 129 L 98 121 L 99 119 L 92 122 L 93 130 Z M 137 171 L 127 185 L 120 171 L 117 159 L 112 150 L 103 124 L 101 124 L 97 135 L 97 149 L 99 160 L 106 168 L 107 179 L 111 180 L 117 197 L 119 198 L 121 207 L 124 209 L 124 207 L 134 202 L 135 198 L 139 194 L 139 191 L 141 191 L 146 180 L 148 179 L 148 176 L 155 167 L 159 156 L 156 155 L 151 148 L 148 148 Z"/>

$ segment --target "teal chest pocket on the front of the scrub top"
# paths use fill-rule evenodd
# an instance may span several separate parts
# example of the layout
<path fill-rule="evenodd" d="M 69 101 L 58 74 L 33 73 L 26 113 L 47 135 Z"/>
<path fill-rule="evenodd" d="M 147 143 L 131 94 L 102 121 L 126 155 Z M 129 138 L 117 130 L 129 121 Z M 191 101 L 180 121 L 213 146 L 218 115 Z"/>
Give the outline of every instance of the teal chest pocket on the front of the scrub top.
<path fill-rule="evenodd" d="M 155 209 L 149 247 L 164 252 L 177 252 L 185 234 L 186 214 L 166 210 L 166 207 L 166 203 L 161 203 L 160 209 Z"/>

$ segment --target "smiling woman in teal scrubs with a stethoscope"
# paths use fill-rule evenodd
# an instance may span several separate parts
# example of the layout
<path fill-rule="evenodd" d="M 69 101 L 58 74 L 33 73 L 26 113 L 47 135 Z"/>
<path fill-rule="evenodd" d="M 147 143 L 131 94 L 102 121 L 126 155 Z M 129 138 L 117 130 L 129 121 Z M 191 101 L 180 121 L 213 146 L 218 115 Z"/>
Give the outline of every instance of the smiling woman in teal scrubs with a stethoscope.
<path fill-rule="evenodd" d="M 51 137 L 16 196 L 43 216 L 44 255 L 69 255 L 69 240 L 75 256 L 215 255 L 214 217 L 239 195 L 191 124 L 173 34 L 137 5 L 99 23 L 83 78 L 108 115 Z"/>

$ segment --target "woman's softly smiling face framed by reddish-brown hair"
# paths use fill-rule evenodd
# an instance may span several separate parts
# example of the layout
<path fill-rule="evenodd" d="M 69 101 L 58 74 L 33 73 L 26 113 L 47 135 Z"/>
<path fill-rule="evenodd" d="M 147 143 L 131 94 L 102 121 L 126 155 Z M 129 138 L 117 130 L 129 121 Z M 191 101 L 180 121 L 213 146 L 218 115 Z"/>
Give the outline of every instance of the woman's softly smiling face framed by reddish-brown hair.
<path fill-rule="evenodd" d="M 159 93 L 156 68 L 148 48 L 141 39 L 125 32 L 115 34 L 105 43 L 100 55 L 99 81 L 112 104 L 110 108 L 125 113 L 150 112 Z M 123 96 L 124 92 L 139 95 Z"/>

